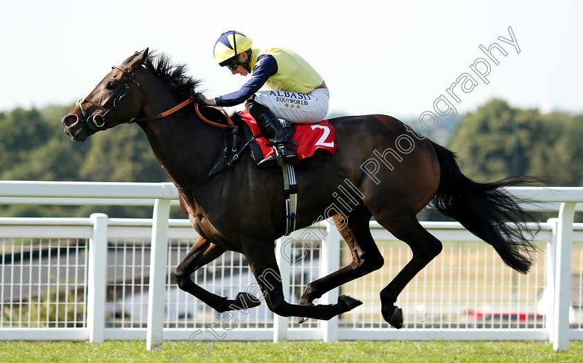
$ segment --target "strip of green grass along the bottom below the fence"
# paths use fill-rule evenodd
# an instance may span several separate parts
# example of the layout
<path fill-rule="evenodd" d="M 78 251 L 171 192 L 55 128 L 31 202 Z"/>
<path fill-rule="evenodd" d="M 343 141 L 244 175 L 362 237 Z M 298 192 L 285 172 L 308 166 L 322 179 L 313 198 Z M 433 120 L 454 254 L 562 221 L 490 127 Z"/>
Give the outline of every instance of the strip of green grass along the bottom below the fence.
<path fill-rule="evenodd" d="M 583 342 L 0 342 L 0 362 L 583 362 Z"/>

